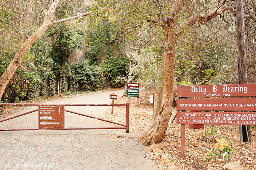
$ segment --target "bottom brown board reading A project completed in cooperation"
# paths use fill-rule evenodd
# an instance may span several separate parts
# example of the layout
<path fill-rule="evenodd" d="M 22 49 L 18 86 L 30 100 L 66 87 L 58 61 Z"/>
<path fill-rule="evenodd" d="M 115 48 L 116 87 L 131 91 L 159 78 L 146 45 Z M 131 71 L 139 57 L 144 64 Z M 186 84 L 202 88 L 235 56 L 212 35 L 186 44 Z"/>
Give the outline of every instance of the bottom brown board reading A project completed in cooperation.
<path fill-rule="evenodd" d="M 177 124 L 256 125 L 256 113 L 177 112 Z"/>

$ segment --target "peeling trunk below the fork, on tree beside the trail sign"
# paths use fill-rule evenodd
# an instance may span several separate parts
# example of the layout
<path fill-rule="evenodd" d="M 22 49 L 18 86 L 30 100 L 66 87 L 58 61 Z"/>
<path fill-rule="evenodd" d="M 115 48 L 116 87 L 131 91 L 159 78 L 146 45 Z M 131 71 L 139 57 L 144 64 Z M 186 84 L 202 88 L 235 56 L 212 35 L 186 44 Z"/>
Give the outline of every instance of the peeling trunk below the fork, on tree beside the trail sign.
<path fill-rule="evenodd" d="M 158 85 L 155 94 L 154 118 L 152 126 L 140 139 L 145 145 L 162 142 L 169 119 L 172 115 L 172 101 L 174 97 L 174 66 L 175 66 L 175 30 L 176 23 L 165 28 L 164 70 L 162 70 L 163 87 Z M 162 67 L 163 68 L 163 67 Z M 162 83 L 160 82 L 160 83 Z"/>

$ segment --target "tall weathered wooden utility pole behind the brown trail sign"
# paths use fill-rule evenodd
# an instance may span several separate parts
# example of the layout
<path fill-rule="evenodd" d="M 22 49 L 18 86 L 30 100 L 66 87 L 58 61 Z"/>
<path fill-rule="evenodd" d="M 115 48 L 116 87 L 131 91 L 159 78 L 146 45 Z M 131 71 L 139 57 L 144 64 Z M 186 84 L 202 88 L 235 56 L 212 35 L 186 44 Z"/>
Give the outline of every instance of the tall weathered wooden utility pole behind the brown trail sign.
<path fill-rule="evenodd" d="M 236 0 L 236 34 L 238 42 L 238 79 L 239 84 L 247 84 L 247 64 L 245 49 L 245 26 L 243 0 Z M 250 126 L 240 125 L 240 141 L 251 143 Z"/>

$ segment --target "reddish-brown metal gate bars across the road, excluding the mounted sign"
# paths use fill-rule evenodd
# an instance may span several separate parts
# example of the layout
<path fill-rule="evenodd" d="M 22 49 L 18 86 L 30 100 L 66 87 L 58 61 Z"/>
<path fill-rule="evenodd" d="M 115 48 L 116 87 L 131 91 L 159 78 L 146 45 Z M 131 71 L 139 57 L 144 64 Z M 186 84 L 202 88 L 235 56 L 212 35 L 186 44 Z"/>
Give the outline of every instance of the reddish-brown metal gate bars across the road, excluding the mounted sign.
<path fill-rule="evenodd" d="M 40 104 L 35 104 L 35 103 L 31 103 L 31 104 L 21 104 L 21 103 L 0 103 L 0 106 L 39 106 Z M 65 110 L 66 112 L 69 113 L 74 113 L 77 115 L 81 115 L 81 116 L 86 116 L 88 118 L 93 118 L 93 119 L 97 119 L 100 121 L 105 121 L 105 122 L 109 122 L 112 124 L 116 124 L 116 125 L 120 125 L 122 127 L 88 127 L 88 128 L 64 128 L 64 129 L 39 129 L 39 128 L 6 128 L 6 129 L 0 129 L 0 131 L 20 131 L 20 130 L 92 130 L 92 129 L 126 129 L 126 133 L 129 133 L 129 104 L 64 104 L 64 106 L 126 106 L 126 125 L 120 124 L 120 123 L 116 123 L 116 122 L 112 122 L 112 121 L 108 121 L 105 119 L 101 119 L 101 118 L 96 118 L 94 116 L 89 116 L 89 115 L 84 115 L 82 113 L 77 113 L 77 112 L 73 112 L 70 110 Z M 37 112 L 39 109 L 36 110 L 32 110 L 26 113 L 23 113 L 21 115 L 17 115 L 17 116 L 13 116 L 11 118 L 8 119 L 3 119 L 0 122 L 4 122 L 13 118 L 17 118 L 19 116 L 23 116 L 23 115 L 27 115 L 29 113 L 33 113 L 33 112 Z"/>

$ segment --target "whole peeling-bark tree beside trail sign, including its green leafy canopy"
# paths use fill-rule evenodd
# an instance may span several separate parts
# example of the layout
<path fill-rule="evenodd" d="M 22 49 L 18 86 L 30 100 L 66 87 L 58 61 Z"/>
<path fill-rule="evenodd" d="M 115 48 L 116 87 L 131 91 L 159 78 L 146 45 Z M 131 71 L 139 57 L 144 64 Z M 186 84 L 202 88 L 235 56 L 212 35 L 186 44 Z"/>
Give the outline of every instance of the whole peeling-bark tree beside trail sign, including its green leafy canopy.
<path fill-rule="evenodd" d="M 161 81 L 155 93 L 153 122 L 140 139 L 145 145 L 160 143 L 165 136 L 169 119 L 172 115 L 172 101 L 175 95 L 175 45 L 180 35 L 189 27 L 199 22 L 206 24 L 226 10 L 233 9 L 228 1 L 217 1 L 208 4 L 216 6 L 205 12 L 193 10 L 207 4 L 196 1 L 174 0 L 140 0 L 140 1 L 98 1 L 97 12 L 111 15 L 115 22 L 123 25 L 127 32 L 140 27 L 142 22 L 151 22 L 163 28 L 165 32 L 164 55 L 160 71 Z M 100 7 L 99 7 L 100 6 Z M 204 7 L 203 7 L 204 8 Z M 117 21 L 118 20 L 118 21 Z"/>

